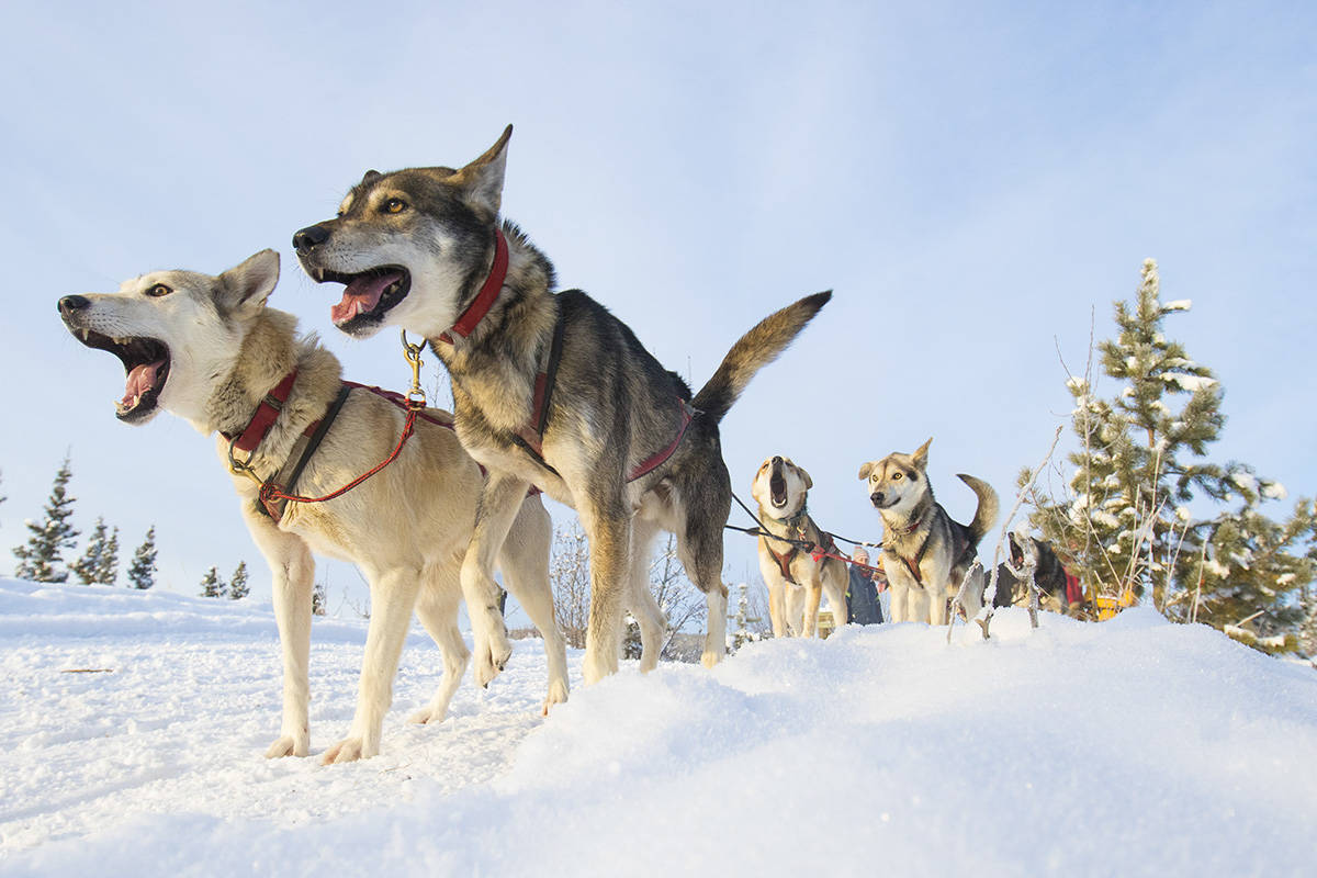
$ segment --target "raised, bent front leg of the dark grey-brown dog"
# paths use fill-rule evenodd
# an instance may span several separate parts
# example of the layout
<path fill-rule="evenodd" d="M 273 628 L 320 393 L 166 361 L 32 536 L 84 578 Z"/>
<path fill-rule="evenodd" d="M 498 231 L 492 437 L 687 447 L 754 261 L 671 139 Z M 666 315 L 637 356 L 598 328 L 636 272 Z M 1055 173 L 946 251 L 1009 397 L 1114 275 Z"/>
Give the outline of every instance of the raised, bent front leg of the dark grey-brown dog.
<path fill-rule="evenodd" d="M 508 473 L 490 473 L 475 512 L 471 542 L 462 558 L 462 596 L 475 638 L 475 682 L 479 686 L 489 686 L 512 656 L 498 608 L 500 590 L 494 582 L 494 561 L 522 508 L 527 487 L 527 482 Z"/>

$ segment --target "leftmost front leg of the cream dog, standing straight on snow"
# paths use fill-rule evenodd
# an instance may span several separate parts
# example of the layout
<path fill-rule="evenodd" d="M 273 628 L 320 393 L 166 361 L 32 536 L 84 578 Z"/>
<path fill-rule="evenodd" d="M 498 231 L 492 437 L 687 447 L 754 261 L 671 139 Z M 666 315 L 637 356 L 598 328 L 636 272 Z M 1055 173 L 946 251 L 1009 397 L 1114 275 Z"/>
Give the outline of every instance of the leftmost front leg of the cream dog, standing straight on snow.
<path fill-rule="evenodd" d="M 266 758 L 306 756 L 311 749 L 307 716 L 311 684 L 311 591 L 316 562 L 302 537 L 279 530 L 259 512 L 244 509 L 248 529 L 273 574 L 274 619 L 283 652 L 283 723 Z"/>

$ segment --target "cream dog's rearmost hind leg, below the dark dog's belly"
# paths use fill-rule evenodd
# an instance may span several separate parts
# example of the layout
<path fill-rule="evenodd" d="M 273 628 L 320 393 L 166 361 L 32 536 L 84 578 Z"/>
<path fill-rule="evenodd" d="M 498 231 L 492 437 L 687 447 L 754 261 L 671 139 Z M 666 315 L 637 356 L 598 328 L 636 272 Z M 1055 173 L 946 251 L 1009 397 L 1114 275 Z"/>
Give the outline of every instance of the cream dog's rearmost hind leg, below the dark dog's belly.
<path fill-rule="evenodd" d="M 549 666 L 549 690 L 544 713 L 568 700 L 568 644 L 553 613 L 553 587 L 549 584 L 549 545 L 553 521 L 539 499 L 522 503 L 522 511 L 503 540 L 498 565 L 507 590 L 516 598 L 544 638 Z"/>

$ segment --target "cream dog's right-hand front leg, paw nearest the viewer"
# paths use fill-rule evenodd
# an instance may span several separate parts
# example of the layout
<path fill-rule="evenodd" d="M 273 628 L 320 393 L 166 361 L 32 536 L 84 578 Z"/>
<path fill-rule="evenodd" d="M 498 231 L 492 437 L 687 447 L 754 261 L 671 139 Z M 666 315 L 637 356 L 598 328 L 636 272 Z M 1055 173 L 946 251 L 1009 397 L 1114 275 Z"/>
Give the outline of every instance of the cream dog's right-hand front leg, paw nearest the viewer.
<path fill-rule="evenodd" d="M 370 628 L 366 631 L 366 653 L 361 662 L 361 684 L 357 690 L 357 713 L 348 737 L 325 750 L 321 765 L 369 760 L 379 754 L 379 736 L 385 713 L 394 700 L 394 675 L 403 652 L 407 625 L 411 624 L 420 571 L 391 567 L 383 573 L 363 570 L 370 581 Z"/>

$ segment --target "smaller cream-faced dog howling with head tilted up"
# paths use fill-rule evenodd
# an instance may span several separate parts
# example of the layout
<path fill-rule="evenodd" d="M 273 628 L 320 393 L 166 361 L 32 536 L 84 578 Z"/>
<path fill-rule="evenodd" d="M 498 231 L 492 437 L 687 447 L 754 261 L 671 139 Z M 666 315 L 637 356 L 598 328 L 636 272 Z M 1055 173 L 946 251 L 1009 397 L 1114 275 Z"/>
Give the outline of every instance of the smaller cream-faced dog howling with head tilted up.
<path fill-rule="evenodd" d="M 827 592 L 836 627 L 846 624 L 849 571 L 844 561 L 773 537 L 799 540 L 836 554 L 832 537 L 815 524 L 807 509 L 814 479 L 790 458 L 772 457 L 759 467 L 751 496 L 759 502 L 759 520 L 768 534 L 759 537 L 759 571 L 768 584 L 768 615 L 773 637 L 813 637 L 819 600 Z"/>

